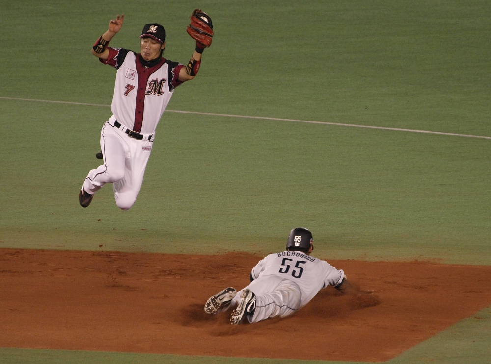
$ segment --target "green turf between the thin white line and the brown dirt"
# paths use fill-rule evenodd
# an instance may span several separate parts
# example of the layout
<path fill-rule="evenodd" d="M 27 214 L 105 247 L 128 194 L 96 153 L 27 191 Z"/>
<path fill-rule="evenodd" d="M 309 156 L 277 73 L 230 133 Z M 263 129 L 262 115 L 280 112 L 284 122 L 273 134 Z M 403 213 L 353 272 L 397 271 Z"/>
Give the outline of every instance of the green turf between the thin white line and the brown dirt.
<path fill-rule="evenodd" d="M 3 246 L 264 253 L 305 225 L 321 256 L 490 262 L 487 140 L 169 114 L 123 212 L 110 186 L 78 206 L 99 131 L 76 120 L 101 108 L 0 105 L 18 116 L 9 133 L 24 133 L 2 154 L 19 166 L 2 177 Z M 59 128 L 32 127 L 34 117 Z"/>

